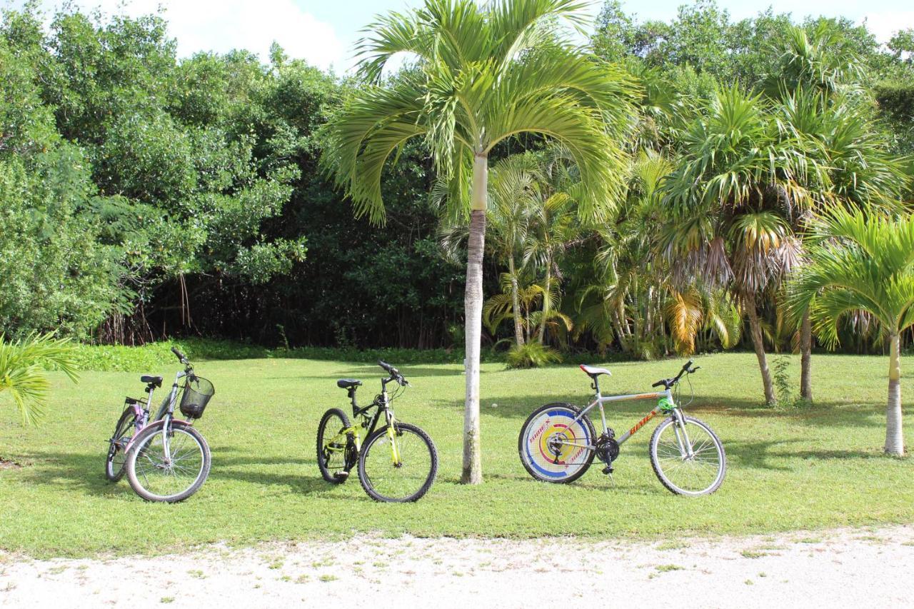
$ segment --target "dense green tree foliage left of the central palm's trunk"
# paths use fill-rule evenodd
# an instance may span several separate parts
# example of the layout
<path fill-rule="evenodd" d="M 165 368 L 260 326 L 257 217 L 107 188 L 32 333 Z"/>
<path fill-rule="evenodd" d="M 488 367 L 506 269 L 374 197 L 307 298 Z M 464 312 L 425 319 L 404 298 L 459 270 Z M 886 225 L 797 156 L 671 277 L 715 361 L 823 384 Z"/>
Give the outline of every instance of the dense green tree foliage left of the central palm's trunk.
<path fill-rule="evenodd" d="M 354 222 L 316 170 L 345 83 L 275 50 L 178 60 L 156 16 L 4 14 L 0 329 L 450 345 L 422 155 L 386 178 L 387 233 Z"/>

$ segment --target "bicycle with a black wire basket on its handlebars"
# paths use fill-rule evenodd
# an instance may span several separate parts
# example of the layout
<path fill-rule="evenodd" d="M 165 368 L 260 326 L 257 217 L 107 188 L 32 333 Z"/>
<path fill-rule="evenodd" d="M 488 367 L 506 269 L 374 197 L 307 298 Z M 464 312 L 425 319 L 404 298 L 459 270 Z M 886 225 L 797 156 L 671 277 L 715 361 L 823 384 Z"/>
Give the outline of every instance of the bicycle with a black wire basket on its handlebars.
<path fill-rule="evenodd" d="M 150 405 L 154 391 L 162 387 L 162 377 L 146 376 L 146 398 L 127 398 L 109 440 L 105 475 L 112 482 L 124 473 L 133 491 L 147 501 L 175 503 L 199 490 L 209 475 L 209 445 L 193 427 L 203 416 L 207 403 L 215 395 L 213 384 L 198 377 L 185 355 L 172 347 L 185 369 L 175 374 L 171 391 L 153 418 Z M 183 386 L 180 380 L 185 379 Z M 178 404 L 178 393 L 181 400 Z M 186 421 L 175 419 L 175 404 Z"/>

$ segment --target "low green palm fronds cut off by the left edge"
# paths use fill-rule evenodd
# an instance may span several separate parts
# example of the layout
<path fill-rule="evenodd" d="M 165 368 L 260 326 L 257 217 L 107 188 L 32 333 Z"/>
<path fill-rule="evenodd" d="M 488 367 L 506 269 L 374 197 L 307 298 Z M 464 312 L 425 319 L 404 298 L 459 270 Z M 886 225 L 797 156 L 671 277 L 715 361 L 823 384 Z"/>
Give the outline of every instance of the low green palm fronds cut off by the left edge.
<path fill-rule="evenodd" d="M 9 391 L 24 423 L 35 423 L 48 401 L 48 368 L 62 370 L 76 380 L 76 360 L 66 338 L 29 335 L 5 342 L 0 335 L 0 393 Z"/>

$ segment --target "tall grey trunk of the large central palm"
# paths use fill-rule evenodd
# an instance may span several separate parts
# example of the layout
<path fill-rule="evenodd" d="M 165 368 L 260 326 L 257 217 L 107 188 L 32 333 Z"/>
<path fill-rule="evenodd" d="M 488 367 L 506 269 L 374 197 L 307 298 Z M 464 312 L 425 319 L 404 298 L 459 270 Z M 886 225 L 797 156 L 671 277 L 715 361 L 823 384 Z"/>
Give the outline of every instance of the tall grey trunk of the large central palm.
<path fill-rule="evenodd" d="M 463 473 L 461 482 L 483 482 L 479 437 L 479 350 L 483 335 L 483 251 L 488 187 L 488 158 L 473 158 L 473 200 L 470 207 L 470 241 L 467 247 L 466 292 L 463 298 L 466 326 L 466 401 L 463 410 Z"/>

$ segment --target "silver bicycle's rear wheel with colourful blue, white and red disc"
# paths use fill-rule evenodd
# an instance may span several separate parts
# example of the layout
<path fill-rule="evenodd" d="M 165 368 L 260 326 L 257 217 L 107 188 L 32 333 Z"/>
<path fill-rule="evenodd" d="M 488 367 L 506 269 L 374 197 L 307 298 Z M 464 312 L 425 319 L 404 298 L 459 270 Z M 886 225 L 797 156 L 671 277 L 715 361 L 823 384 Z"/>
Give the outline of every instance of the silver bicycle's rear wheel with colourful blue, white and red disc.
<path fill-rule="evenodd" d="M 543 482 L 567 484 L 587 472 L 594 452 L 585 446 L 593 445 L 596 432 L 590 418 L 579 415 L 577 407 L 557 403 L 540 406 L 527 417 L 517 438 L 527 473 Z"/>

